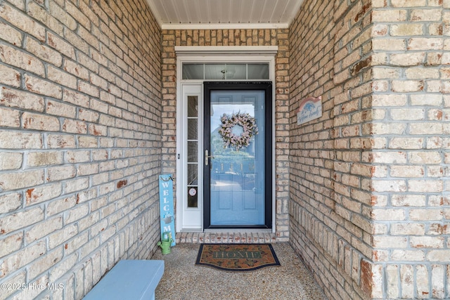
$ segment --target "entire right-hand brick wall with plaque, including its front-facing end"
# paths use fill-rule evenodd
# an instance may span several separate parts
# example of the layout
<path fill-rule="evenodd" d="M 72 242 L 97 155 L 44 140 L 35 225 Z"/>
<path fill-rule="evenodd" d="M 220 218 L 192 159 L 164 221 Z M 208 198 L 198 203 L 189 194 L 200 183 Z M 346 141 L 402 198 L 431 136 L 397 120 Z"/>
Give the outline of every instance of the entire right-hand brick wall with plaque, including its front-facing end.
<path fill-rule="evenodd" d="M 449 6 L 305 1 L 290 28 L 290 242 L 330 299 L 450 296 Z"/>

